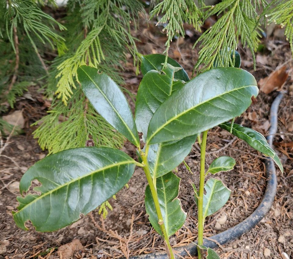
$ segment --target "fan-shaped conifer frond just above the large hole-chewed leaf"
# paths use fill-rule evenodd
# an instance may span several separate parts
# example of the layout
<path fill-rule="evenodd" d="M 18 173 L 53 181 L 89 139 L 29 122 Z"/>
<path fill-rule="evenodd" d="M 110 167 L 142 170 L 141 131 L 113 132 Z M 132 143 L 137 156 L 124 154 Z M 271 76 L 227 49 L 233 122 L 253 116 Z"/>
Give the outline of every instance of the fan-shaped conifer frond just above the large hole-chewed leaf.
<path fill-rule="evenodd" d="M 69 148 L 84 147 L 85 141 L 91 138 L 96 146 L 120 148 L 124 138 L 116 132 L 82 95 L 81 89 L 74 90 L 70 107 L 58 102 L 42 118 L 34 131 L 34 138 L 42 149 L 49 154 Z"/>

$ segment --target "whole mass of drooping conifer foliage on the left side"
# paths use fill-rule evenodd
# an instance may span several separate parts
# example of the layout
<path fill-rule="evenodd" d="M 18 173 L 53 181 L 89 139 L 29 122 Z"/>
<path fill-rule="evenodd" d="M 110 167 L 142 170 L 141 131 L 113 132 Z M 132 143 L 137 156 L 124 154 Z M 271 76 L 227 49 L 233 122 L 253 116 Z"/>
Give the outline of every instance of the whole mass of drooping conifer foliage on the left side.
<path fill-rule="evenodd" d="M 122 83 L 118 71 L 126 53 L 137 62 L 130 24 L 135 26 L 143 5 L 137 0 L 70 0 L 58 22 L 42 11 L 44 5 L 56 7 L 55 1 L 1 0 L 2 111 L 7 100 L 13 108 L 16 97 L 38 83 L 44 86 L 45 96 L 53 99 L 49 114 L 35 123 L 34 137 L 43 149 L 54 153 L 81 147 L 88 138 L 96 145 L 120 147 L 124 138 L 92 112 L 76 71 L 89 64 Z M 58 56 L 47 63 L 44 56 L 54 54 L 54 49 Z"/>

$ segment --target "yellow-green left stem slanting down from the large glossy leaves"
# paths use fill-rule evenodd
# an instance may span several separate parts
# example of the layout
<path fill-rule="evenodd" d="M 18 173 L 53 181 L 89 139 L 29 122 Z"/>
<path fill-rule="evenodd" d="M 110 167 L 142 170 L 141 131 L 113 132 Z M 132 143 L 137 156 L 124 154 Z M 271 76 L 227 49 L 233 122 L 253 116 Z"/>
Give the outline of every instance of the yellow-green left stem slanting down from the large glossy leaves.
<path fill-rule="evenodd" d="M 166 231 L 164 220 L 163 220 L 163 215 L 162 215 L 161 208 L 160 208 L 159 198 L 158 198 L 158 194 L 157 194 L 157 187 L 155 185 L 156 184 L 156 179 L 153 182 L 153 178 L 152 178 L 151 173 L 150 173 L 150 167 L 149 167 L 149 164 L 147 162 L 147 153 L 141 152 L 140 155 L 141 155 L 141 157 L 143 159 L 143 164 L 144 164 L 143 170 L 144 170 L 144 172 L 146 174 L 147 181 L 148 181 L 148 184 L 150 186 L 150 191 L 152 193 L 152 197 L 153 197 L 154 204 L 155 204 L 155 207 L 156 207 L 157 216 L 158 216 L 158 224 L 160 225 L 162 233 L 164 235 L 164 239 L 165 239 L 166 245 L 168 247 L 168 254 L 170 256 L 170 259 L 174 259 L 175 257 L 174 257 L 172 247 L 171 247 L 170 242 L 169 242 L 169 237 L 167 235 L 167 231 Z"/>

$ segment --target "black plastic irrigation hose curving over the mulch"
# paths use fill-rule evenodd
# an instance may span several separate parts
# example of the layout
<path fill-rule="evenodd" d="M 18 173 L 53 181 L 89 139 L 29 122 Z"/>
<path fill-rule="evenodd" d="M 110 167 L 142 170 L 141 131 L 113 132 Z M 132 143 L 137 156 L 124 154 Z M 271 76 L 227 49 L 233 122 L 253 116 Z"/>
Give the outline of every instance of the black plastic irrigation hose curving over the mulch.
<path fill-rule="evenodd" d="M 283 96 L 284 96 L 284 93 L 279 93 L 278 96 L 273 101 L 271 109 L 270 109 L 271 127 L 269 129 L 269 135 L 267 137 L 267 140 L 271 147 L 273 146 L 274 135 L 277 133 L 278 107 Z M 244 233 L 254 228 L 256 224 L 258 224 L 262 220 L 262 218 L 266 215 L 266 213 L 268 213 L 269 209 L 271 208 L 273 204 L 273 200 L 275 198 L 276 191 L 277 191 L 277 176 L 276 176 L 276 170 L 275 170 L 273 159 L 271 158 L 266 159 L 265 165 L 266 165 L 266 178 L 267 178 L 266 191 L 257 209 L 244 221 L 237 224 L 233 228 L 229 228 L 225 230 L 224 232 L 213 235 L 209 237 L 209 239 L 204 239 L 204 243 L 203 243 L 204 246 L 207 246 L 210 248 L 216 248 L 218 247 L 218 244 L 223 245 L 234 239 L 239 238 L 241 235 L 243 235 Z M 215 240 L 215 242 L 212 240 Z M 191 256 L 194 256 L 194 255 L 197 255 L 197 246 L 196 246 L 196 243 L 190 243 L 186 246 L 174 248 L 173 251 L 177 255 L 176 257 L 178 258 L 185 257 L 188 254 L 190 254 Z M 130 259 L 168 259 L 168 254 L 166 254 L 165 252 L 155 252 L 150 254 L 142 254 L 142 255 L 133 256 L 133 257 L 130 257 Z"/>

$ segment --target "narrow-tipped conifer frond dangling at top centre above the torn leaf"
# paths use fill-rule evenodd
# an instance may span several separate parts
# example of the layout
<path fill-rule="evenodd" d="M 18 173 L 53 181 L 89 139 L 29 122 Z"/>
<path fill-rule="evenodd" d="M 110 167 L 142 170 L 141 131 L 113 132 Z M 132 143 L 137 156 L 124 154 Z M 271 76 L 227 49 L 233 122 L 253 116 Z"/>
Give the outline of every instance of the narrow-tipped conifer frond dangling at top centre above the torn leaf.
<path fill-rule="evenodd" d="M 165 13 L 163 17 L 158 21 L 159 23 L 166 24 L 163 31 L 167 31 L 168 40 L 165 44 L 166 50 L 166 60 L 168 50 L 170 48 L 170 42 L 174 36 L 185 36 L 185 31 L 183 28 L 183 22 L 193 24 L 194 28 L 200 31 L 201 21 L 199 20 L 201 16 L 201 11 L 195 5 L 193 0 L 163 0 L 158 3 L 150 13 L 150 19 L 159 13 Z"/>

